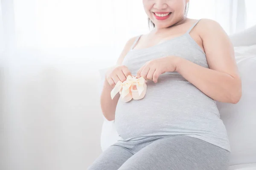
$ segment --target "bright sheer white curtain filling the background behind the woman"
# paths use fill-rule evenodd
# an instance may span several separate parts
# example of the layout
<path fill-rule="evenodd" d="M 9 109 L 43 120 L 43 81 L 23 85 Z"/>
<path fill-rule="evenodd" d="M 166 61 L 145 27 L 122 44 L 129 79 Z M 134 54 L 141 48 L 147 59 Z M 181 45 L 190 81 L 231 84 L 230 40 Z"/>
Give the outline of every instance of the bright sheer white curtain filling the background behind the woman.
<path fill-rule="evenodd" d="M 1 170 L 84 170 L 100 154 L 98 69 L 148 32 L 141 0 L 1 0 Z M 190 0 L 232 34 L 255 0 Z"/>

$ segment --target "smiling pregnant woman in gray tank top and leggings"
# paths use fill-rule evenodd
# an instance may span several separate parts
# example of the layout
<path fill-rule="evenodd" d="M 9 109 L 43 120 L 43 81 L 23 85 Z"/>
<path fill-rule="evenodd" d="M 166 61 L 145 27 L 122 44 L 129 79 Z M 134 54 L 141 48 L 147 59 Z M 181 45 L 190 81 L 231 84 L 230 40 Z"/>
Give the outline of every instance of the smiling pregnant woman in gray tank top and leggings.
<path fill-rule="evenodd" d="M 120 136 L 89 170 L 226 170 L 230 144 L 215 101 L 237 103 L 233 45 L 212 20 L 186 17 L 189 0 L 143 0 L 150 33 L 131 38 L 108 71 L 101 107 Z M 128 76 L 147 80 L 143 99 L 111 99 Z"/>

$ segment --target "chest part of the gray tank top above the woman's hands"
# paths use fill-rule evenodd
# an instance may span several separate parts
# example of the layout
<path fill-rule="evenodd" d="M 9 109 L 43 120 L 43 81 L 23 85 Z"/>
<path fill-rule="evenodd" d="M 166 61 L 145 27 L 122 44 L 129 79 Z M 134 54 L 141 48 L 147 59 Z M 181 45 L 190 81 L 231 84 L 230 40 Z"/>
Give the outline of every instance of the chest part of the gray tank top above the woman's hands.
<path fill-rule="evenodd" d="M 151 48 L 134 49 L 128 52 L 123 60 L 133 75 L 148 61 L 160 57 L 177 56 L 187 59 L 195 64 L 208 68 L 207 59 L 199 46 L 189 40 L 170 41 Z"/>

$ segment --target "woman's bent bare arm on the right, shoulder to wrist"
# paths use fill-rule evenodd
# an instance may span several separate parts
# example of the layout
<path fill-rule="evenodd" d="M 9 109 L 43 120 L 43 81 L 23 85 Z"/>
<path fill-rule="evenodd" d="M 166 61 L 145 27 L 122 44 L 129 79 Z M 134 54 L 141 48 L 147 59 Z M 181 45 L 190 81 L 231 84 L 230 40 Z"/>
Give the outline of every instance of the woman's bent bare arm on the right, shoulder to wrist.
<path fill-rule="evenodd" d="M 241 80 L 229 37 L 221 26 L 212 20 L 201 20 L 198 23 L 198 31 L 210 69 L 180 59 L 176 71 L 216 101 L 234 104 L 239 102 Z"/>

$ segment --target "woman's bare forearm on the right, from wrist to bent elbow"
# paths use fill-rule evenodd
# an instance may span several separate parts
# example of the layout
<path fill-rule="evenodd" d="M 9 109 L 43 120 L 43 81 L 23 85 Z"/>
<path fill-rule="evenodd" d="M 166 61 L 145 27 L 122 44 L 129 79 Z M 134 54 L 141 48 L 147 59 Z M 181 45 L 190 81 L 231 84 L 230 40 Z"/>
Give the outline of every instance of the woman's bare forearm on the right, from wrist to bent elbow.
<path fill-rule="evenodd" d="M 186 59 L 179 60 L 176 71 L 216 101 L 235 104 L 241 98 L 239 77 L 204 68 Z"/>

